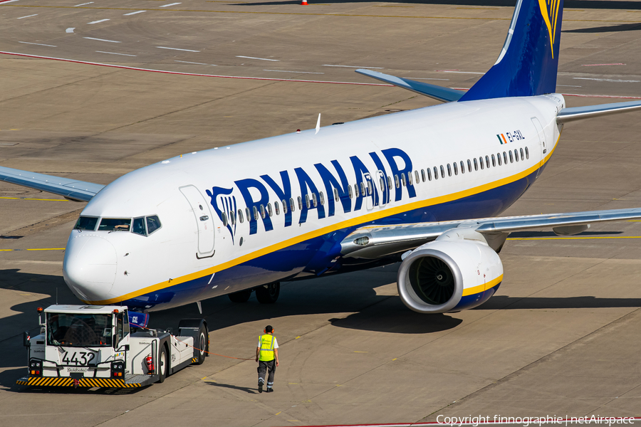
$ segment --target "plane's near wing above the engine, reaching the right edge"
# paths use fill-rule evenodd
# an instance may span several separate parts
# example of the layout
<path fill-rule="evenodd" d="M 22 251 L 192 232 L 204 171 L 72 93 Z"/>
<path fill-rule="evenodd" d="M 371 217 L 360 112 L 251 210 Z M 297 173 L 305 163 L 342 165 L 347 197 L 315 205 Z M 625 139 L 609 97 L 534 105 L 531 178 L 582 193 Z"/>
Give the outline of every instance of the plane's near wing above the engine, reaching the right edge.
<path fill-rule="evenodd" d="M 498 252 L 513 231 L 552 228 L 558 236 L 571 236 L 587 230 L 590 223 L 635 218 L 641 218 L 641 208 L 367 226 L 351 233 L 343 239 L 340 246 L 345 258 L 381 258 L 418 248 L 447 231 L 459 228 L 476 231 L 479 233 L 479 240 L 485 240 Z"/>

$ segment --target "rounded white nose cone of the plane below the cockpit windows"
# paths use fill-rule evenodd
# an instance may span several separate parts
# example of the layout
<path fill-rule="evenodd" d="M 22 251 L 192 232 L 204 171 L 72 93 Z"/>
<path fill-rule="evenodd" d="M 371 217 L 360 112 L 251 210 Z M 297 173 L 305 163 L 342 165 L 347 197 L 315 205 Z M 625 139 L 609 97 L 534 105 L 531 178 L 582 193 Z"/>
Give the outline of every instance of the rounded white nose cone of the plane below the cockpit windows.
<path fill-rule="evenodd" d="M 118 258 L 104 238 L 78 233 L 69 238 L 63 263 L 65 282 L 85 301 L 107 300 L 115 281 Z"/>

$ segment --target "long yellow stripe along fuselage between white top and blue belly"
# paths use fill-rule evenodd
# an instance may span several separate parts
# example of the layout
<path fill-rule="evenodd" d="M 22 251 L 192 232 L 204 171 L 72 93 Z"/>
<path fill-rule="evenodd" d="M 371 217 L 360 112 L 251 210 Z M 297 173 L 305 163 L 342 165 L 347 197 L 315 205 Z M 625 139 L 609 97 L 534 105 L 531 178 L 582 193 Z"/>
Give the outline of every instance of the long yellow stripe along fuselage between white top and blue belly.
<path fill-rule="evenodd" d="M 334 223 L 330 226 L 326 226 L 323 228 L 317 228 L 314 231 L 310 231 L 305 234 L 301 234 L 300 236 L 296 236 L 293 238 L 290 238 L 286 241 L 281 241 L 278 243 L 275 243 L 271 246 L 267 246 L 266 248 L 259 249 L 258 251 L 254 251 L 252 253 L 248 253 L 246 255 L 242 255 L 239 258 L 235 258 L 233 260 L 229 260 L 226 263 L 222 263 L 219 265 L 214 265 L 214 267 L 206 268 L 205 270 L 198 271 L 196 273 L 190 273 L 188 275 L 184 275 L 179 278 L 174 278 L 170 282 L 162 282 L 162 283 L 157 283 L 155 285 L 150 285 L 147 286 L 146 288 L 142 288 L 139 290 L 135 290 L 134 292 L 129 292 L 125 295 L 120 295 L 120 297 L 115 297 L 115 298 L 110 298 L 109 300 L 100 300 L 100 301 L 87 301 L 87 300 L 82 300 L 86 304 L 92 304 L 92 305 L 109 305 L 113 304 L 115 302 L 120 302 L 127 300 L 129 298 L 137 297 L 138 295 L 144 295 L 148 292 L 155 292 L 160 289 L 167 288 L 169 286 L 175 286 L 175 285 L 180 285 L 181 283 L 188 282 L 189 280 L 194 280 L 197 278 L 201 278 L 204 275 L 212 275 L 213 273 L 218 273 L 219 271 L 226 270 L 227 268 L 234 267 L 236 265 L 246 263 L 250 260 L 254 260 L 256 258 L 259 258 L 263 255 L 266 255 L 268 253 L 276 252 L 284 248 L 288 248 L 289 246 L 296 245 L 296 243 L 301 243 L 303 241 L 307 241 L 311 238 L 316 238 L 318 236 L 323 236 L 328 233 L 332 233 L 333 231 L 340 230 L 342 228 L 348 228 L 350 226 L 358 226 L 359 224 L 362 223 L 368 223 L 370 221 L 375 221 L 380 218 L 385 218 L 386 216 L 390 215 L 395 215 L 395 214 L 402 214 L 403 212 L 407 211 L 412 211 L 414 209 L 419 209 L 419 208 L 424 208 L 427 206 L 433 206 L 436 204 L 442 204 L 446 203 L 448 201 L 453 201 L 457 199 L 463 199 L 464 197 L 467 196 L 473 196 L 474 194 L 479 194 L 484 191 L 488 191 L 491 189 L 495 189 L 499 186 L 504 186 L 506 184 L 510 184 L 511 182 L 518 181 L 521 178 L 524 178 L 533 172 L 536 171 L 539 167 L 543 166 L 550 157 L 552 156 L 552 153 L 558 147 L 558 140 L 561 139 L 561 134 L 558 135 L 558 138 L 556 139 L 556 144 L 554 145 L 553 149 L 550 150 L 548 155 L 542 159 L 542 161 L 533 167 L 524 170 L 523 172 L 519 172 L 518 174 L 514 174 L 512 176 L 508 176 L 503 179 L 499 179 L 494 182 L 490 182 L 488 184 L 483 184 L 480 186 L 476 186 L 471 189 L 459 191 L 457 193 L 452 193 L 452 194 L 446 194 L 444 196 L 439 196 L 439 197 L 434 197 L 433 199 L 425 199 L 425 200 L 420 200 L 420 201 L 415 201 L 413 203 L 408 203 L 404 204 L 402 206 L 395 206 L 393 208 L 381 210 L 381 211 L 375 211 L 372 212 L 371 214 L 363 215 L 363 216 L 357 216 L 355 218 L 350 218 L 348 220 L 342 221 L 340 223 Z"/>

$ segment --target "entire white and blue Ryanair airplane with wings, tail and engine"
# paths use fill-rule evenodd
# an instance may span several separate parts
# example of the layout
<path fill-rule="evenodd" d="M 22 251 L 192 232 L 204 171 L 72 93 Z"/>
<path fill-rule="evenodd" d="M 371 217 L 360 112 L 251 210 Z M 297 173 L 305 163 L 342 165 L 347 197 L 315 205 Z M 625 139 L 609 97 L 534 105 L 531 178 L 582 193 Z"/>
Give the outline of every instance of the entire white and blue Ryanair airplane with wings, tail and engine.
<path fill-rule="evenodd" d="M 513 231 L 558 235 L 641 209 L 498 217 L 543 173 L 563 124 L 641 108 L 566 107 L 555 93 L 563 0 L 518 0 L 494 66 L 467 93 L 358 70 L 442 105 L 183 154 L 107 186 L 0 168 L 88 201 L 63 273 L 88 304 L 144 312 L 229 294 L 275 302 L 283 280 L 402 261 L 422 313 L 476 307 L 503 280 Z"/>

